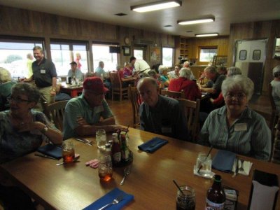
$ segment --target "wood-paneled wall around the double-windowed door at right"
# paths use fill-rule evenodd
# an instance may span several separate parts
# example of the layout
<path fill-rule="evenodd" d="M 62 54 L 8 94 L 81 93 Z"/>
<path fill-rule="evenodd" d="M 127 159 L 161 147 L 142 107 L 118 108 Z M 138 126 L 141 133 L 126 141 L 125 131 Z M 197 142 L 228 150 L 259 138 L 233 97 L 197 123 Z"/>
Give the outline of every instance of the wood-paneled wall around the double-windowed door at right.
<path fill-rule="evenodd" d="M 273 59 L 275 37 L 280 37 L 280 20 L 262 22 L 246 22 L 230 25 L 230 38 L 228 48 L 228 66 L 232 66 L 235 56 L 235 41 L 241 39 L 262 39 L 268 38 L 267 58 L 265 62 L 265 75 L 262 85 L 263 94 L 267 94 L 268 84 L 273 79 L 272 69 L 280 65 L 279 59 Z"/>

